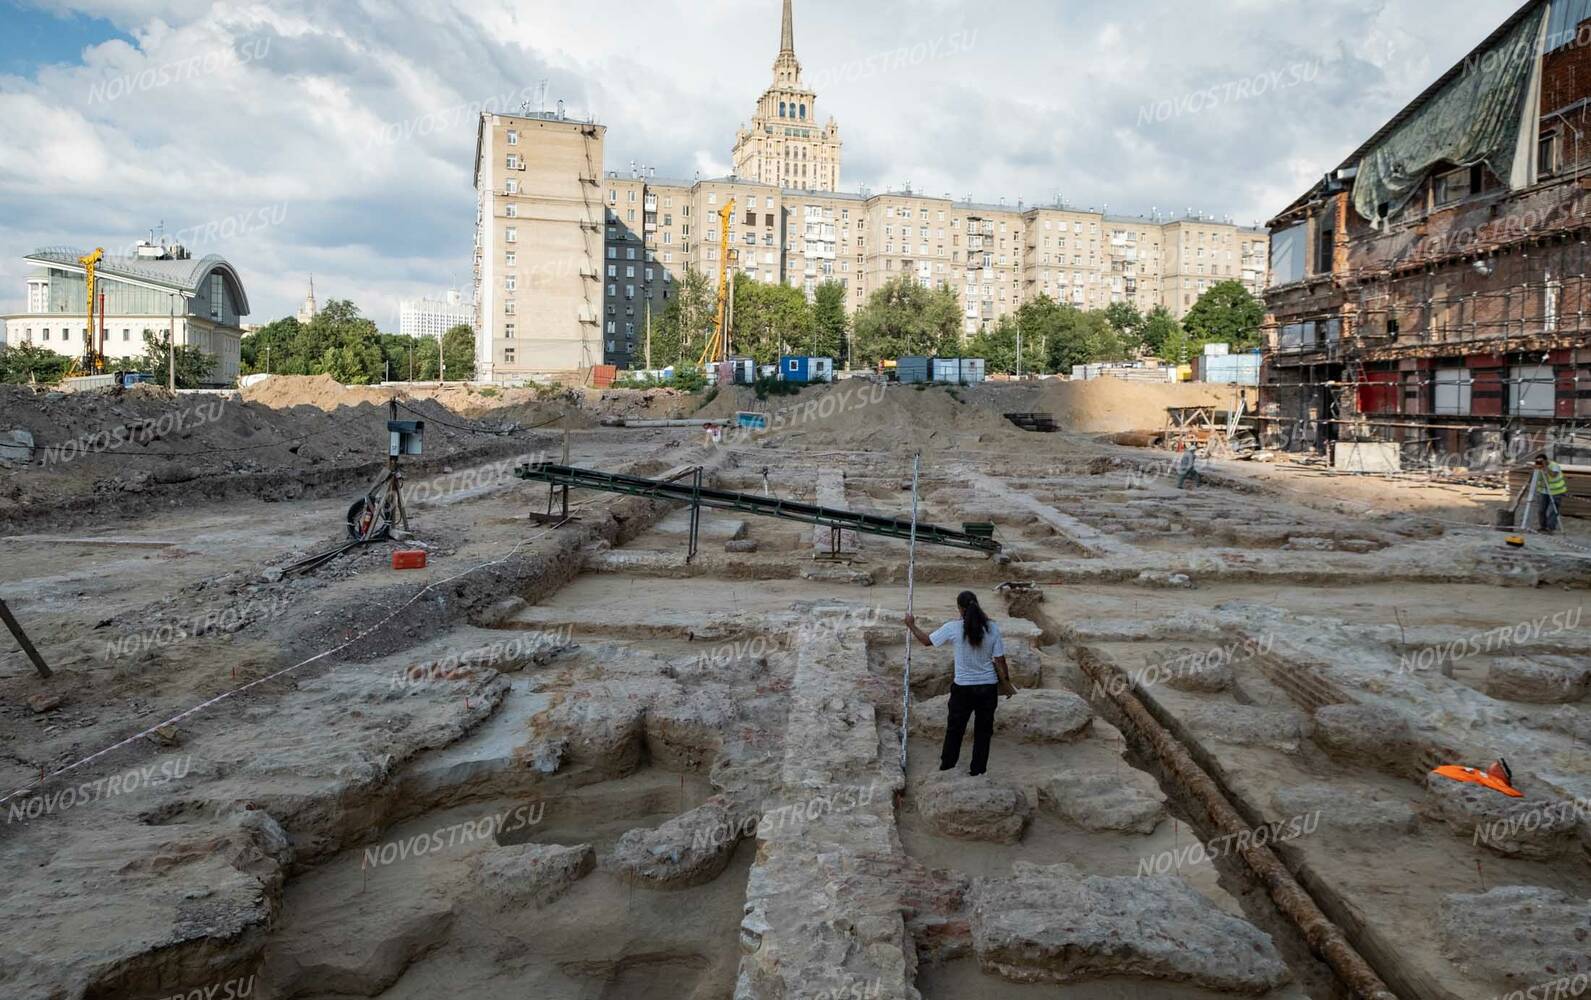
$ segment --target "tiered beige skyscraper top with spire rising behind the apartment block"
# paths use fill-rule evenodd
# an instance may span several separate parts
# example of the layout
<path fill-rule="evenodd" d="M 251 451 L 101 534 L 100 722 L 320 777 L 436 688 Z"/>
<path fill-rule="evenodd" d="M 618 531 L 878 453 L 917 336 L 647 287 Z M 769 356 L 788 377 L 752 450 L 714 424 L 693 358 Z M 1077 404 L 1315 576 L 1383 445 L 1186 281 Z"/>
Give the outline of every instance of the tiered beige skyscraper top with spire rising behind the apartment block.
<path fill-rule="evenodd" d="M 796 59 L 796 11 L 784 0 L 773 86 L 762 92 L 751 124 L 735 135 L 735 175 L 803 191 L 840 189 L 840 127 L 818 124 L 818 95 L 802 83 Z"/>

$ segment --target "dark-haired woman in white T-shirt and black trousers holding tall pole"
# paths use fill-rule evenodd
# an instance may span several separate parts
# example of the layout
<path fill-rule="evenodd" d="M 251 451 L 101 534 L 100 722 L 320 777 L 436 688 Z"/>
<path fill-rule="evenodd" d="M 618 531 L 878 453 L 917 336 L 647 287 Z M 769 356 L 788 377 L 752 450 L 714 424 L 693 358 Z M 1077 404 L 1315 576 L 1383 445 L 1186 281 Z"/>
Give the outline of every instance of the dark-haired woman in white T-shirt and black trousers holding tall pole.
<path fill-rule="evenodd" d="M 994 707 L 999 696 L 1010 698 L 1017 693 L 1010 682 L 1010 668 L 1006 666 L 1006 641 L 1001 639 L 999 626 L 990 620 L 978 606 L 978 596 L 971 590 L 956 595 L 959 618 L 945 622 L 932 634 L 916 626 L 916 618 L 905 617 L 905 626 L 912 630 L 923 645 L 956 644 L 956 679 L 950 685 L 950 719 L 945 723 L 945 749 L 939 755 L 939 769 L 948 771 L 961 758 L 961 738 L 967 731 L 967 717 L 972 717 L 972 769 L 974 776 L 983 774 L 990 766 L 990 741 L 994 738 Z"/>

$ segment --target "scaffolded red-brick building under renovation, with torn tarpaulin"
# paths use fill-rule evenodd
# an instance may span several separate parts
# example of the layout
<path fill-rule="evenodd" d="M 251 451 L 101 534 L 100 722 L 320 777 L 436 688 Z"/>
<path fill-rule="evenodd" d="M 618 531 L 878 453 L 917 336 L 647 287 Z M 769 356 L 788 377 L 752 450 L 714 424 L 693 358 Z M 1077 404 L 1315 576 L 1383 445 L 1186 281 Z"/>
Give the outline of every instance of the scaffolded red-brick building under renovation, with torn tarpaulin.
<path fill-rule="evenodd" d="M 1268 447 L 1591 456 L 1588 105 L 1591 0 L 1535 0 L 1270 223 Z"/>

